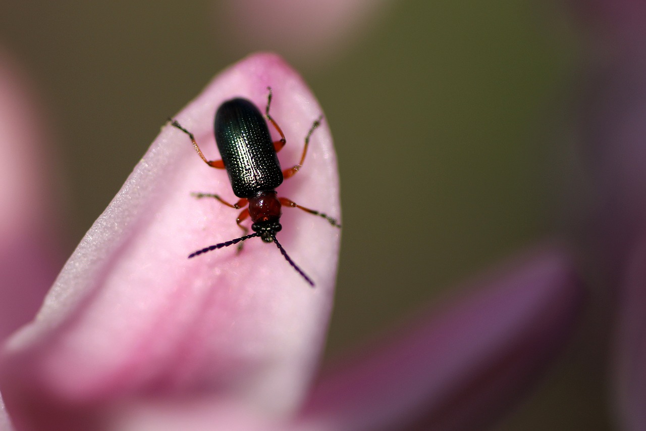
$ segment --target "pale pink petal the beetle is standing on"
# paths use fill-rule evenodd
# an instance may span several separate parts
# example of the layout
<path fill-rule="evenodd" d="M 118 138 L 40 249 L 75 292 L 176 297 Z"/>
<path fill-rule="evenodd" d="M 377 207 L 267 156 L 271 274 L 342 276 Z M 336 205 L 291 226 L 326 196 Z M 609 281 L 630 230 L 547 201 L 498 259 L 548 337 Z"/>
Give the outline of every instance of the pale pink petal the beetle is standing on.
<path fill-rule="evenodd" d="M 280 153 L 287 166 L 322 110 L 277 56 L 234 65 L 176 118 L 217 159 L 216 107 L 234 96 L 264 107 L 268 85 L 287 137 Z M 239 256 L 224 249 L 188 260 L 196 249 L 240 236 L 238 212 L 195 199 L 196 191 L 233 200 L 225 171 L 206 166 L 186 135 L 163 127 L 65 265 L 37 320 L 8 342 L 0 388 L 17 428 L 98 429 L 124 404 L 166 397 L 206 396 L 275 417 L 300 403 L 328 327 L 339 230 L 284 210 L 279 238 L 315 289 L 262 241 L 247 241 Z M 304 168 L 278 192 L 339 216 L 326 122 Z"/>

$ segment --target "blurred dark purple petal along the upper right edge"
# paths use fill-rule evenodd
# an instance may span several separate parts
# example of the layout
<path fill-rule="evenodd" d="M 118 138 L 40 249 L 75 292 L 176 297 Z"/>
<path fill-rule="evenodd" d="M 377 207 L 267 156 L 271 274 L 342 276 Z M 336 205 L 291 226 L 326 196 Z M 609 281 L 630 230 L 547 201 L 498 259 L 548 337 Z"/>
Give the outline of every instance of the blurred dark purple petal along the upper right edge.
<path fill-rule="evenodd" d="M 646 3 L 570 2 L 592 37 L 578 77 L 575 168 L 583 178 L 572 223 L 594 270 L 616 283 L 646 216 Z"/>

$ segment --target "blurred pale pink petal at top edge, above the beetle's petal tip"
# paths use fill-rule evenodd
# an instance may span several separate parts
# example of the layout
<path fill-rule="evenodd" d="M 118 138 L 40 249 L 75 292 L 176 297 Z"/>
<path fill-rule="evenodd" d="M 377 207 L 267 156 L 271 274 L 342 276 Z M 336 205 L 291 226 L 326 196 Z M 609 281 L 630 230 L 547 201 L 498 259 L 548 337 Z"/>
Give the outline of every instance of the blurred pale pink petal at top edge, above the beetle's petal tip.
<path fill-rule="evenodd" d="M 224 47 L 271 49 L 318 66 L 353 45 L 388 0 L 236 0 L 218 2 L 215 19 Z"/>

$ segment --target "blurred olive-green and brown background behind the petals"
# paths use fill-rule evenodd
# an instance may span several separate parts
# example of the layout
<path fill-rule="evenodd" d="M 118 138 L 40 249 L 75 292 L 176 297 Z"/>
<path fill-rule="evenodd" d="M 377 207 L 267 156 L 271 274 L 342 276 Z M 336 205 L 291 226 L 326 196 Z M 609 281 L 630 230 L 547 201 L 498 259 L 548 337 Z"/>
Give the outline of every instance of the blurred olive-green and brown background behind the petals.
<path fill-rule="evenodd" d="M 218 37 L 213 14 L 207 1 L 3 5 L 0 45 L 52 123 L 67 254 L 165 118 L 247 54 Z M 344 230 L 328 355 L 554 231 L 552 158 L 573 34 L 563 11 L 541 2 L 408 0 L 329 60 L 287 56 L 339 154 Z M 609 430 L 603 361 L 588 344 L 570 346 L 496 429 Z"/>

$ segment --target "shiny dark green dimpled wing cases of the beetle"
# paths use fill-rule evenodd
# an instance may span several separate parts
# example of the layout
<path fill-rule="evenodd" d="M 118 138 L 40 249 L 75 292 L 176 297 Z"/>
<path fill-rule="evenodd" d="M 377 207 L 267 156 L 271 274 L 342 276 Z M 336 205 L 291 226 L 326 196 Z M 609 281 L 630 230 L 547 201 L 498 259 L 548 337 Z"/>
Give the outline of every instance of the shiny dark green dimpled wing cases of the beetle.
<path fill-rule="evenodd" d="M 265 118 L 256 105 L 242 98 L 224 102 L 215 115 L 214 129 L 236 196 L 251 197 L 280 186 L 280 163 Z"/>

